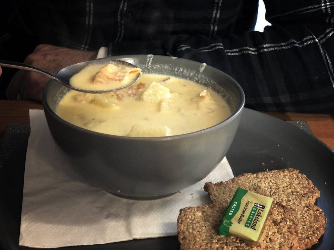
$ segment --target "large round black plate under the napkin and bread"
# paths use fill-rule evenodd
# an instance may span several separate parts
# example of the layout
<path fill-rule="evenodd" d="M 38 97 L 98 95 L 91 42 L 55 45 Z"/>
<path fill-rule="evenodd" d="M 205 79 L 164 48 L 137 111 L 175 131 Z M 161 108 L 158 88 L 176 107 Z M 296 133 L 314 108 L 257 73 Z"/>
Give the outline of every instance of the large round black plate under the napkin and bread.
<path fill-rule="evenodd" d="M 0 169 L 0 249 L 18 246 L 27 141 Z M 244 109 L 227 159 L 233 174 L 286 167 L 299 169 L 320 190 L 317 205 L 327 217 L 325 234 L 312 249 L 334 249 L 334 151 L 307 132 L 263 113 Z M 312 226 L 312 225 L 310 225 Z M 58 249 L 179 249 L 176 236 Z"/>

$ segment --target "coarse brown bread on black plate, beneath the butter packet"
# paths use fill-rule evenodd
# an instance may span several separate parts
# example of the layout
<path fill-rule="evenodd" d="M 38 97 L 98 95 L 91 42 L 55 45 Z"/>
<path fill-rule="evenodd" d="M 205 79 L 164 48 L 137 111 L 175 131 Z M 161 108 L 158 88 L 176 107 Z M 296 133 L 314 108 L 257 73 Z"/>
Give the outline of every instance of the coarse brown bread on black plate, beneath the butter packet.
<path fill-rule="evenodd" d="M 274 199 L 255 247 L 234 236 L 218 235 L 221 219 L 237 187 Z M 209 193 L 211 205 L 180 209 L 177 235 L 181 250 L 308 249 L 325 232 L 327 219 L 314 204 L 320 192 L 296 169 L 246 173 L 226 182 L 205 183 L 204 190 Z"/>

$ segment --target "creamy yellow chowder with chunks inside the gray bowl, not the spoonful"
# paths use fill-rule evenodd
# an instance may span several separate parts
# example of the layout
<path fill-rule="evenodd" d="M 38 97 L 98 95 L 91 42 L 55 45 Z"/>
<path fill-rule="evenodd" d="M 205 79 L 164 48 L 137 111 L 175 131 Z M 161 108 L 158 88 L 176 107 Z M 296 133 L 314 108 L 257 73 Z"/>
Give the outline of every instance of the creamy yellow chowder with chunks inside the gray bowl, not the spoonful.
<path fill-rule="evenodd" d="M 120 136 L 179 135 L 211 127 L 231 111 L 203 85 L 166 75 L 142 74 L 130 87 L 103 94 L 69 91 L 56 114 L 89 130 Z"/>

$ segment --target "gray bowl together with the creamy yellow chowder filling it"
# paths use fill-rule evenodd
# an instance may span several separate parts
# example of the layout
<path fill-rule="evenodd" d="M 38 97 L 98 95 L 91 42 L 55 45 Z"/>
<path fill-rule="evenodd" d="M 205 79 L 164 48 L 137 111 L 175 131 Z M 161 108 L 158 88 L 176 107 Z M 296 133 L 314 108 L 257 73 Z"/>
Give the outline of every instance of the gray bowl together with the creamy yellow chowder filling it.
<path fill-rule="evenodd" d="M 93 60 L 73 80 L 93 81 L 113 60 L 134 64 L 141 76 L 100 94 L 55 80 L 44 88 L 49 130 L 73 170 L 91 185 L 134 198 L 170 195 L 207 176 L 237 131 L 245 102 L 240 85 L 209 65 L 156 55 Z"/>

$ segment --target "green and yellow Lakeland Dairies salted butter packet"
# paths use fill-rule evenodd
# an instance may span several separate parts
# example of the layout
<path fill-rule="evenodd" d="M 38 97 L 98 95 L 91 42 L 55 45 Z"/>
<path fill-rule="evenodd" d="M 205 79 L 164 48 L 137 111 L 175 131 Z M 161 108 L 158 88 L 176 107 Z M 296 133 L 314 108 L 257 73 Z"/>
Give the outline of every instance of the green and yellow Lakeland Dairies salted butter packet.
<path fill-rule="evenodd" d="M 219 235 L 233 235 L 254 245 L 269 214 L 273 198 L 237 188 L 219 226 Z"/>

